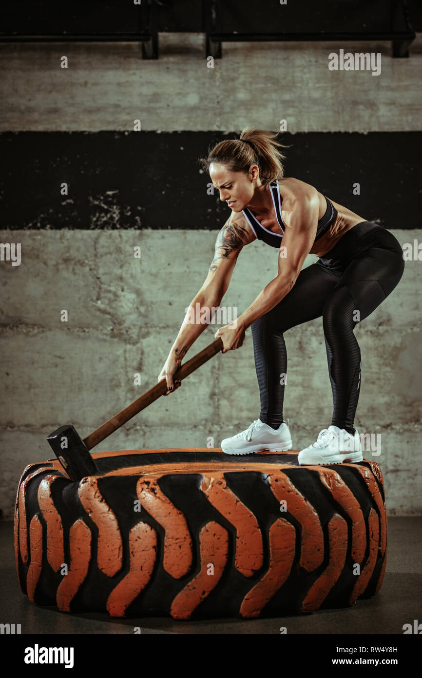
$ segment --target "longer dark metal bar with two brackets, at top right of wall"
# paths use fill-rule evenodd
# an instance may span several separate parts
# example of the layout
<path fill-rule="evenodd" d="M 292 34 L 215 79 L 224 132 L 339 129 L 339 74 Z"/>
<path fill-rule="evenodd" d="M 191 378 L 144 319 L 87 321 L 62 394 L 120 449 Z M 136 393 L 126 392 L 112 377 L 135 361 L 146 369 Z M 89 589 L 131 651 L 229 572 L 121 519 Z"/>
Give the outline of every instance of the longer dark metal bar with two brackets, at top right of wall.
<path fill-rule="evenodd" d="M 391 40 L 392 55 L 406 58 L 409 47 L 416 37 L 410 24 L 407 0 L 390 0 L 389 31 L 378 33 L 224 33 L 221 31 L 221 3 L 219 0 L 203 0 L 203 20 L 205 26 L 205 58 L 213 56 L 221 59 L 223 42 L 284 42 L 284 41 L 363 41 Z M 399 25 L 402 24 L 400 29 Z"/>

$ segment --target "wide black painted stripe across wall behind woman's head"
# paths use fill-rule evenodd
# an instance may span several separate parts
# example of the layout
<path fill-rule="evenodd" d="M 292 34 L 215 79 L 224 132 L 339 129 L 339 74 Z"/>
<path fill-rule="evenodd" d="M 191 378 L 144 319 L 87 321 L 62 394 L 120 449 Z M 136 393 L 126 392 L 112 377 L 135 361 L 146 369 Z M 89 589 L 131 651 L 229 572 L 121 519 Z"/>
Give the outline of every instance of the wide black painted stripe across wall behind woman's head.
<path fill-rule="evenodd" d="M 221 228 L 230 214 L 197 159 L 238 133 L 0 134 L 1 228 Z M 420 228 L 422 132 L 282 134 L 285 176 L 386 228 Z M 60 195 L 62 182 L 68 195 Z M 353 184 L 360 195 L 353 195 Z"/>

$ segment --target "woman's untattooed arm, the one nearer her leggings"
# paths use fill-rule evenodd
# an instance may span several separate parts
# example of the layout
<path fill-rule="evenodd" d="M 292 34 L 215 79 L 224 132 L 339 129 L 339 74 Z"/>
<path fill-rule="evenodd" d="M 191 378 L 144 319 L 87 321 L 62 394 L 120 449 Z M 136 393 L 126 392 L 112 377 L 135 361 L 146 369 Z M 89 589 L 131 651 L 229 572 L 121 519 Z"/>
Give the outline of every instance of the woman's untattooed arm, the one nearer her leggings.
<path fill-rule="evenodd" d="M 278 274 L 238 317 L 238 327 L 247 330 L 255 320 L 271 311 L 289 294 L 315 240 L 318 205 L 315 189 L 283 199 L 283 212 L 287 213 L 287 217 L 284 219 L 285 229 L 278 256 Z"/>

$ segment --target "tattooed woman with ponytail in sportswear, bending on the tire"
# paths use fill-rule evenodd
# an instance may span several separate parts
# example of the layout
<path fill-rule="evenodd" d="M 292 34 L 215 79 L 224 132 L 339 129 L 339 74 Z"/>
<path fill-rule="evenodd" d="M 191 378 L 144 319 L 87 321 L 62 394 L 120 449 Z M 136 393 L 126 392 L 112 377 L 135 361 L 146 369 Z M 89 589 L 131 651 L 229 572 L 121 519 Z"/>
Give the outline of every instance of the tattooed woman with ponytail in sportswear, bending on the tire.
<path fill-rule="evenodd" d="M 289 420 L 283 419 L 287 353 L 284 332 L 322 316 L 333 418 L 316 443 L 299 452 L 299 464 L 362 461 L 354 416 L 360 392 L 361 359 L 354 327 L 394 290 L 404 271 L 400 243 L 392 233 L 329 200 L 299 179 L 284 177 L 276 134 L 243 129 L 224 140 L 201 163 L 231 214 L 217 236 L 215 256 L 201 290 L 191 302 L 219 306 L 242 250 L 259 239 L 278 254 L 278 273 L 236 327 L 220 327 L 222 353 L 242 345 L 251 327 L 261 412 L 245 431 L 221 441 L 226 454 L 292 447 Z M 308 254 L 318 262 L 301 271 Z M 173 374 L 186 351 L 205 330 L 186 315 L 159 380 L 166 395 L 180 386 Z"/>

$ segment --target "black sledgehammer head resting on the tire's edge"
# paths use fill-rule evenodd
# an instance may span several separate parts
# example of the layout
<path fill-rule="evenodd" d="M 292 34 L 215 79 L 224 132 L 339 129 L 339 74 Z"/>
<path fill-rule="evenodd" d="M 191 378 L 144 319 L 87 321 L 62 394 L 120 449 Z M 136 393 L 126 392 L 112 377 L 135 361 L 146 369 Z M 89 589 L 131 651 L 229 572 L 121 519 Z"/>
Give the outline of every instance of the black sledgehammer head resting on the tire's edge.
<path fill-rule="evenodd" d="M 47 436 L 47 440 L 70 479 L 79 481 L 87 475 L 98 473 L 96 462 L 72 424 L 56 428 Z"/>

